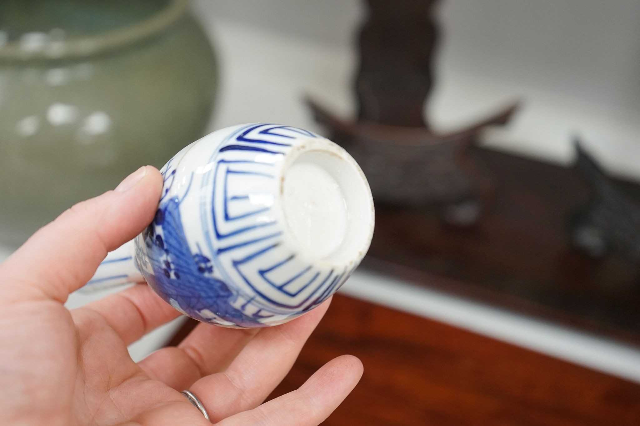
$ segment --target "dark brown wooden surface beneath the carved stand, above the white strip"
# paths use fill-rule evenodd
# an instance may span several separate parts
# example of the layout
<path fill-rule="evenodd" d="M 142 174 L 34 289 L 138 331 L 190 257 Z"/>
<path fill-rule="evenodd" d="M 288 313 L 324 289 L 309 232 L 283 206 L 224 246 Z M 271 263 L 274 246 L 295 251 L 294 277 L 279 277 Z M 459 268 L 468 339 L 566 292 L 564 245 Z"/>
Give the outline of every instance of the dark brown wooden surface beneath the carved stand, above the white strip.
<path fill-rule="evenodd" d="M 450 227 L 428 209 L 376 205 L 364 265 L 640 345 L 640 264 L 614 253 L 593 259 L 570 243 L 570 217 L 589 199 L 580 175 L 488 149 L 474 155 L 497 183 L 479 224 Z M 640 185 L 616 185 L 640 199 Z"/>

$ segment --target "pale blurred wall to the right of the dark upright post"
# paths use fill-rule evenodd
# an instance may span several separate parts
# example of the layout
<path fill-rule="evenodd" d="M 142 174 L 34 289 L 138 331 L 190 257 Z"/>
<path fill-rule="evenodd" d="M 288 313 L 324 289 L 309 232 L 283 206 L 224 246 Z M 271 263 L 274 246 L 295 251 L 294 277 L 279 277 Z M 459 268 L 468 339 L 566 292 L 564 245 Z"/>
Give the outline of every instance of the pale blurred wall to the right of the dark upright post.
<path fill-rule="evenodd" d="M 568 136 L 579 132 L 605 164 L 640 177 L 640 1 L 443 6 L 439 118 L 522 96 L 525 109 L 509 132 L 488 135 L 492 146 L 566 161 Z"/>

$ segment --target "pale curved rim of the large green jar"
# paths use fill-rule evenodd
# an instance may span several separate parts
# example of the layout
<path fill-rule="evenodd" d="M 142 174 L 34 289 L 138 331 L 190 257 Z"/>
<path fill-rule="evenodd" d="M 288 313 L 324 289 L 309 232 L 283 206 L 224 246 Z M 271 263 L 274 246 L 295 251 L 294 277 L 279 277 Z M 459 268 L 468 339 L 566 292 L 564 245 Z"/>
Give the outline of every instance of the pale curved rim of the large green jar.
<path fill-rule="evenodd" d="M 0 47 L 0 61 L 68 59 L 108 52 L 163 31 L 180 19 L 186 13 L 188 6 L 189 0 L 169 0 L 163 9 L 136 24 L 105 31 L 95 36 L 50 41 L 43 43 L 41 49 L 26 50 L 20 42 L 8 42 Z"/>

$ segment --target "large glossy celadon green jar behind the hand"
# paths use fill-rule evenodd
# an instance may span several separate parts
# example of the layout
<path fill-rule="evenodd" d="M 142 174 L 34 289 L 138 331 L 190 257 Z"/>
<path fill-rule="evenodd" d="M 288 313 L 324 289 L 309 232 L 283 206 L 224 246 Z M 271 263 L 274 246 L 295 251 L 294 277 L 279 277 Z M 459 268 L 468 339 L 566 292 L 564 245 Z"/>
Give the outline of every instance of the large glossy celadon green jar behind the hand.
<path fill-rule="evenodd" d="M 188 6 L 0 1 L 0 245 L 204 134 L 216 62 Z"/>

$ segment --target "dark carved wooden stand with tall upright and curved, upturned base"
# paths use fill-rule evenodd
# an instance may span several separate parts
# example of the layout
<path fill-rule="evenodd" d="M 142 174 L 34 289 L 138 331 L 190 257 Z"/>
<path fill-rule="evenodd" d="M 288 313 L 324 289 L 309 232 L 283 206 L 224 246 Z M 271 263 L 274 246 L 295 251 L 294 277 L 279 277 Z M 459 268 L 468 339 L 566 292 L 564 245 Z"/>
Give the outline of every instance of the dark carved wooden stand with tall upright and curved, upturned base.
<path fill-rule="evenodd" d="M 431 206 L 446 222 L 476 222 L 492 195 L 490 175 L 470 155 L 478 133 L 504 125 L 516 104 L 487 119 L 441 134 L 431 130 L 424 105 L 433 86 L 438 0 L 367 0 L 355 79 L 358 116 L 340 119 L 308 101 L 333 141 L 367 175 L 376 204 Z"/>

